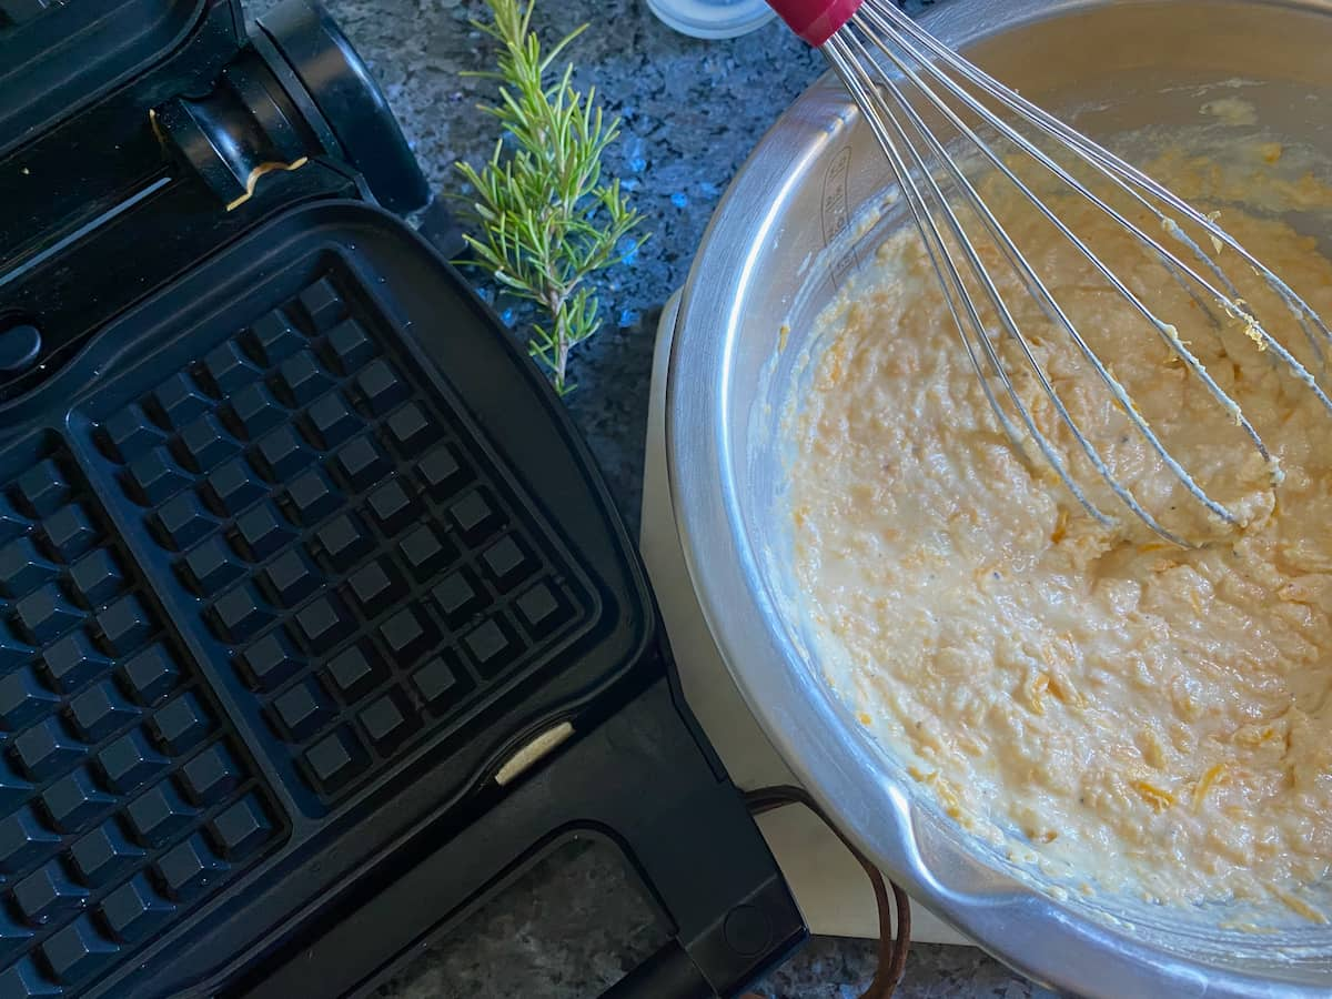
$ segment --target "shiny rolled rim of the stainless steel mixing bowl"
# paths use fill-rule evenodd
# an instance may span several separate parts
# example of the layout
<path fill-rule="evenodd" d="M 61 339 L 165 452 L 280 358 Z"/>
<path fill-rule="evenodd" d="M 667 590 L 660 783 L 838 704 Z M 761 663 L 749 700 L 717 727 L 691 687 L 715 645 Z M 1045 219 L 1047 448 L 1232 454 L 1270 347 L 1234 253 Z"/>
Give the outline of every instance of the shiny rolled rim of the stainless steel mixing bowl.
<path fill-rule="evenodd" d="M 944 43 L 966 47 L 1107 3 L 948 0 L 920 23 Z M 1332 15 L 1327 0 L 1264 5 Z M 667 481 L 685 562 L 729 673 L 774 749 L 842 831 L 912 898 L 1027 976 L 1107 998 L 1327 995 L 1325 987 L 1181 958 L 984 864 L 956 838 L 931 835 L 932 815 L 884 771 L 882 750 L 847 723 L 829 686 L 793 658 L 791 643 L 773 626 L 779 614 L 745 539 L 735 494 L 743 462 L 731 448 L 730 360 L 759 248 L 774 237 L 802 165 L 856 119 L 831 71 L 781 115 L 714 212 L 681 300 L 666 385 Z"/>

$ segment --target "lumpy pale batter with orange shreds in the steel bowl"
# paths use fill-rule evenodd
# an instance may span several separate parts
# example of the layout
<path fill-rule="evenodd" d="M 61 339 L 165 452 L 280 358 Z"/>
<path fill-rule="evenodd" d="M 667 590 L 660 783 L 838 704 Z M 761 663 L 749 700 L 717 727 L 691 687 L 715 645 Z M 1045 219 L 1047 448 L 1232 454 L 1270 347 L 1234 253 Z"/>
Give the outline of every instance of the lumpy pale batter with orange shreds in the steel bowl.
<path fill-rule="evenodd" d="M 1271 193 L 1279 156 L 1261 147 L 1239 186 Z M 1236 186 L 1233 172 L 1183 156 L 1150 172 L 1200 205 Z M 1311 180 L 1296 189 L 1307 201 L 1327 193 Z M 1075 890 L 1280 899 L 1323 922 L 1308 887 L 1332 863 L 1332 417 L 1243 326 L 1217 333 L 1114 222 L 1072 197 L 1055 204 L 1205 360 L 1272 448 L 1279 481 L 1018 194 L 987 196 L 1010 209 L 1019 245 L 1144 416 L 1241 523 L 1181 493 L 1016 274 L 996 266 L 1074 417 L 1144 505 L 1201 545 L 1168 545 L 1128 515 L 1103 526 L 1039 460 L 1023 461 L 919 238 L 902 232 L 821 318 L 787 416 L 795 586 L 817 658 L 948 815 Z M 1312 240 L 1231 206 L 1221 222 L 1332 317 L 1332 264 Z M 1273 293 L 1232 277 L 1312 364 Z M 994 342 L 1019 372 L 1002 333 Z M 1018 378 L 1076 478 L 1119 514 L 1032 380 Z"/>

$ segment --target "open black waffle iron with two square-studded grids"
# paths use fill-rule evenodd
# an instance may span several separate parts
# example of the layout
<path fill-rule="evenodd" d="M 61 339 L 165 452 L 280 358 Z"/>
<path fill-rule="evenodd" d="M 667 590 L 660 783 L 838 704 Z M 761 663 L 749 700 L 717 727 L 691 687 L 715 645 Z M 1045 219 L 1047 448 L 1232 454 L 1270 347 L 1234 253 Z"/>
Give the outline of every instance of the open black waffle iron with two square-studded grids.
<path fill-rule="evenodd" d="M 328 15 L 0 0 L 0 999 L 344 996 L 575 835 L 805 936 L 562 406 Z"/>

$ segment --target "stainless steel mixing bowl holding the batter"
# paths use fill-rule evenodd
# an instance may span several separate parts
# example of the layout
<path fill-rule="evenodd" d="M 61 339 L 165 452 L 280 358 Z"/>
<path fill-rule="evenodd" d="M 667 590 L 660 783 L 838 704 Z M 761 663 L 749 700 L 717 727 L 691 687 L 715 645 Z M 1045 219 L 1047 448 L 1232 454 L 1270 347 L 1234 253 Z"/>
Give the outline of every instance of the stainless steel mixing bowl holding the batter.
<path fill-rule="evenodd" d="M 1264 135 L 1332 164 L 1332 0 L 948 0 L 927 27 L 1112 147 L 1196 128 L 1199 88 L 1216 88 L 1251 103 Z M 810 320 L 903 224 L 892 210 L 874 218 L 886 185 L 868 128 L 825 77 L 731 185 L 685 289 L 669 380 L 671 489 L 738 686 L 790 767 L 886 871 L 1028 975 L 1096 996 L 1328 995 L 1328 927 L 1292 922 L 1255 936 L 1217 928 L 1224 910 L 1058 898 L 944 818 L 823 683 L 785 571 L 775 414 L 801 384 Z M 1293 221 L 1332 233 L 1325 218 Z M 783 324 L 793 332 L 779 352 Z"/>

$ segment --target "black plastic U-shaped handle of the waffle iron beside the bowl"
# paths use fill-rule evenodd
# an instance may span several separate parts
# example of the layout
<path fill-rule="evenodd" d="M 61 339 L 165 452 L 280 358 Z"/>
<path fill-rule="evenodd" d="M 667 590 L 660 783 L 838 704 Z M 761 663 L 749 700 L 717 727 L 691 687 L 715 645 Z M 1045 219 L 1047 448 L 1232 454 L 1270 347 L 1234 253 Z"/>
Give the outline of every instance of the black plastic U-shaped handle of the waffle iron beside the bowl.
<path fill-rule="evenodd" d="M 410 864 L 368 872 L 362 880 L 373 892 L 216 995 L 368 996 L 575 838 L 621 850 L 673 934 L 606 999 L 733 996 L 806 938 L 741 794 L 673 678 L 659 677 L 523 771 L 473 825 L 453 835 L 424 832 Z"/>

